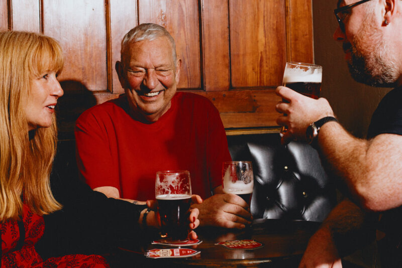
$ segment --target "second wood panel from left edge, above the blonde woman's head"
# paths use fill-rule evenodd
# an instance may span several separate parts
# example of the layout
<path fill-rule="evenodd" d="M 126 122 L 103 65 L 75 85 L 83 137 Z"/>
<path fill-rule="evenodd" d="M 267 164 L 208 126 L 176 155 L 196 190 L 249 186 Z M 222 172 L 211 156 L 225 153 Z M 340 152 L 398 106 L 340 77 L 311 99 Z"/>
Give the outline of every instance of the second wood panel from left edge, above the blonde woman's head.
<path fill-rule="evenodd" d="M 13 0 L 11 3 L 13 30 L 39 33 L 39 0 Z"/>

